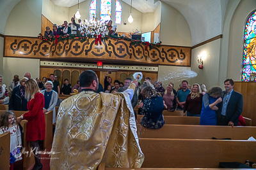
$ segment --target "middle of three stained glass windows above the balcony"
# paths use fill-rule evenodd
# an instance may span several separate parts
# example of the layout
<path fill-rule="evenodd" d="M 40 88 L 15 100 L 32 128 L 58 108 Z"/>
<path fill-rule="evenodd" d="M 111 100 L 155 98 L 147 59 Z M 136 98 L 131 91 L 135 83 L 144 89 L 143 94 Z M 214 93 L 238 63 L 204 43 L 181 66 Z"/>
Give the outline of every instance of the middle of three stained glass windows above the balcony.
<path fill-rule="evenodd" d="M 111 0 L 100 1 L 100 22 L 111 20 Z"/>

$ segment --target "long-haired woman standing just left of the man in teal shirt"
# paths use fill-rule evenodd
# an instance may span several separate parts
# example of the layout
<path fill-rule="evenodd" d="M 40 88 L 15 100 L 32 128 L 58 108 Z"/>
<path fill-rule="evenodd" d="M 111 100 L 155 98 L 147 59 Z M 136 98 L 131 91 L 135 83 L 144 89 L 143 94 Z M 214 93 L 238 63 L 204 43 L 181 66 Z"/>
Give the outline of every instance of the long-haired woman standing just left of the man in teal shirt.
<path fill-rule="evenodd" d="M 177 102 L 176 102 L 176 96 L 173 92 L 172 83 L 168 84 L 168 86 L 164 92 L 163 99 L 164 99 L 164 104 L 166 104 L 166 106 L 167 106 L 167 110 L 175 111 L 175 109 L 177 107 Z"/>

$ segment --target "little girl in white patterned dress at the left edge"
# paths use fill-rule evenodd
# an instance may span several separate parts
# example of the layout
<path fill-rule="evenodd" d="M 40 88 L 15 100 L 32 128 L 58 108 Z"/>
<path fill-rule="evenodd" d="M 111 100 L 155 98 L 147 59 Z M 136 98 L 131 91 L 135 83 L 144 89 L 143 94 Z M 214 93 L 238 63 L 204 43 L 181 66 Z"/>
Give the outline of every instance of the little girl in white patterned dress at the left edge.
<path fill-rule="evenodd" d="M 21 134 L 19 125 L 16 124 L 15 115 L 12 111 L 4 111 L 0 119 L 0 134 L 4 132 L 10 132 L 11 143 L 10 152 L 13 157 L 16 158 L 15 161 L 22 159 L 19 149 L 21 147 Z M 13 164 L 10 163 L 10 169 L 13 170 Z"/>

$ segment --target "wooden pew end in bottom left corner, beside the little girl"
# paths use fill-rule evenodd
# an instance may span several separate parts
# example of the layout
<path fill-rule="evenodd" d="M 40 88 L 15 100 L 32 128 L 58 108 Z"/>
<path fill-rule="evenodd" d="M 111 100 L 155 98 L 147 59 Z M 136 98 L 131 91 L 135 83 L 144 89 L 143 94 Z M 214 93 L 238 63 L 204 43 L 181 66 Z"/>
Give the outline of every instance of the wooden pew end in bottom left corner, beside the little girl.
<path fill-rule="evenodd" d="M 0 134 L 0 170 L 10 169 L 10 132 Z"/>

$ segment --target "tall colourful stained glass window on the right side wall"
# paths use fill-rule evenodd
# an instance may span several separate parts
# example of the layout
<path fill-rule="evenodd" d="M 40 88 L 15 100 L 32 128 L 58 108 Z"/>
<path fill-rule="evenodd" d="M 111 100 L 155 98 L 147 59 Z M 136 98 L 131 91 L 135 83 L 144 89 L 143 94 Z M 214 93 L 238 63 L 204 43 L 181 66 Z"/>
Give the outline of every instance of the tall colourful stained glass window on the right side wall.
<path fill-rule="evenodd" d="M 244 30 L 243 75 L 242 81 L 251 81 L 256 74 L 256 11 L 248 18 Z"/>

